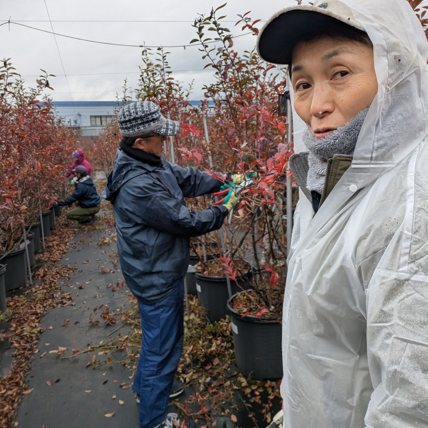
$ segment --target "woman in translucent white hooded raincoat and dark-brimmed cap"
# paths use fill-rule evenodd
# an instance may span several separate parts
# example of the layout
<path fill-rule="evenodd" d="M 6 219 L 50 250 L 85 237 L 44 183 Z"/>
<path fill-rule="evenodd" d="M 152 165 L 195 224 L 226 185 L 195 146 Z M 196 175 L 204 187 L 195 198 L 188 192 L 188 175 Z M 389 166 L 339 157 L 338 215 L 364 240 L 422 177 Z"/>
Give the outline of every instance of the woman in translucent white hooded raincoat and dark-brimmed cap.
<path fill-rule="evenodd" d="M 405 0 L 315 1 L 270 18 L 257 48 L 291 66 L 298 153 L 284 427 L 428 427 L 422 27 Z"/>

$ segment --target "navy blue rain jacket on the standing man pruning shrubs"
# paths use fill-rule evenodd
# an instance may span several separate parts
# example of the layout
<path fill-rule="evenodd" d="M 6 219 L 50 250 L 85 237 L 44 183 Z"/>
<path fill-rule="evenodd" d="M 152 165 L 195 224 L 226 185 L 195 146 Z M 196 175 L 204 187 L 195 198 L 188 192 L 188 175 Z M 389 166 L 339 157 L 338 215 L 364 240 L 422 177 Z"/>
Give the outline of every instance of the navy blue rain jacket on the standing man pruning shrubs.
<path fill-rule="evenodd" d="M 221 182 L 162 156 L 159 166 L 135 160 L 118 149 L 101 196 L 113 204 L 123 276 L 143 303 L 171 294 L 189 265 L 190 237 L 220 229 L 223 205 L 190 211 L 184 197 L 220 190 Z"/>

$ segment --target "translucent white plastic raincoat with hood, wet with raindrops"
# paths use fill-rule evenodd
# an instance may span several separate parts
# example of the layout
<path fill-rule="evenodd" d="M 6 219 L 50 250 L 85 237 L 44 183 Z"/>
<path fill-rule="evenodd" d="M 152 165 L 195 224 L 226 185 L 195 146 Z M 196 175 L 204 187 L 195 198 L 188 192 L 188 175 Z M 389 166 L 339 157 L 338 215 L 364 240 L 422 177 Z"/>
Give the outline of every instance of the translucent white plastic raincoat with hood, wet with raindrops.
<path fill-rule="evenodd" d="M 284 427 L 428 427 L 428 43 L 405 0 L 343 3 L 373 42 L 379 90 L 352 167 L 315 216 L 300 193 Z"/>

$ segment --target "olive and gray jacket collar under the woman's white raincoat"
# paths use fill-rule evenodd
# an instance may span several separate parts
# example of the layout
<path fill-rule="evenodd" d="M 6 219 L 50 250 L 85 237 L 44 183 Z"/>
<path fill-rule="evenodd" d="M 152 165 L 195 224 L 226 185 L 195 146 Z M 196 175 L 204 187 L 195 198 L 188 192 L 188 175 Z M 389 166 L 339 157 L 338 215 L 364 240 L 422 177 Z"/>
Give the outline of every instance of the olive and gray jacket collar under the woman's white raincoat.
<path fill-rule="evenodd" d="M 306 187 L 306 179 L 308 176 L 309 163 L 308 163 L 309 152 L 295 153 L 288 160 L 291 172 L 294 175 L 297 185 L 302 189 L 305 196 L 312 202 L 311 191 Z M 346 170 L 351 166 L 352 156 L 345 155 L 334 155 L 327 161 L 327 171 L 324 181 L 324 188 L 321 194 L 319 206 L 325 201 L 327 196 L 336 186 Z"/>

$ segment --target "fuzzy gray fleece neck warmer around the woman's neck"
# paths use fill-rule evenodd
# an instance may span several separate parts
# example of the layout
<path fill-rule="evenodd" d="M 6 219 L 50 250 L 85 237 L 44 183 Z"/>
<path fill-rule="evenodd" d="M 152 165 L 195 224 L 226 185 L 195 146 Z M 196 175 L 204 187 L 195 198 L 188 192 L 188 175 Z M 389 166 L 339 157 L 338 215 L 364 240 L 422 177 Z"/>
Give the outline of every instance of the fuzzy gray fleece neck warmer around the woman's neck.
<path fill-rule="evenodd" d="M 322 193 L 328 159 L 333 158 L 334 155 L 354 155 L 355 145 L 368 111 L 369 107 L 361 110 L 348 123 L 321 140 L 315 138 L 312 132 L 306 129 L 302 139 L 309 151 L 309 170 L 306 181 L 308 190 Z"/>

